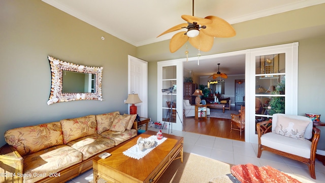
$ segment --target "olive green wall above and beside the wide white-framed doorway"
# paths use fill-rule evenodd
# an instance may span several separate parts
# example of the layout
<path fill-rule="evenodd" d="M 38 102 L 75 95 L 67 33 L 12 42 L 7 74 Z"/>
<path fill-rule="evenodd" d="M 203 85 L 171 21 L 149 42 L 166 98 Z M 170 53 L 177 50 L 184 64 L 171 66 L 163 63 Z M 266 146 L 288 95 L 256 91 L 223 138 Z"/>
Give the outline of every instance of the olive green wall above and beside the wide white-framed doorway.
<path fill-rule="evenodd" d="M 299 42 L 298 114 L 321 114 L 325 121 L 325 4 L 289 11 L 264 18 L 234 24 L 233 38 L 215 38 L 214 46 L 202 55 L 245 50 L 264 46 Z M 305 34 L 312 32 L 313 34 Z M 148 114 L 157 120 L 157 62 L 185 58 L 186 45 L 175 53 L 169 51 L 169 40 L 137 47 L 137 57 L 149 62 Z M 189 57 L 198 50 L 188 45 Z M 151 70 L 151 71 L 150 71 Z M 325 148 L 325 127 L 321 130 L 318 148 Z"/>

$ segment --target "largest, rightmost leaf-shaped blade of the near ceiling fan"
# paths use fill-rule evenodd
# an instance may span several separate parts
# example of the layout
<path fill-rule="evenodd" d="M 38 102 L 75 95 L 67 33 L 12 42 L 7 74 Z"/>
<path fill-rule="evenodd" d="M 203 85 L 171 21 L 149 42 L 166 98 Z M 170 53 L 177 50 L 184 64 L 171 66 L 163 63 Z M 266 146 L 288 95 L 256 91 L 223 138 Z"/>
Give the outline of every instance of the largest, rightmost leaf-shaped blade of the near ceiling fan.
<path fill-rule="evenodd" d="M 213 23 L 207 25 L 206 28 L 200 29 L 200 32 L 202 31 L 208 36 L 217 38 L 229 38 L 236 35 L 234 27 L 222 18 L 216 16 L 207 16 L 205 18 L 212 20 Z"/>

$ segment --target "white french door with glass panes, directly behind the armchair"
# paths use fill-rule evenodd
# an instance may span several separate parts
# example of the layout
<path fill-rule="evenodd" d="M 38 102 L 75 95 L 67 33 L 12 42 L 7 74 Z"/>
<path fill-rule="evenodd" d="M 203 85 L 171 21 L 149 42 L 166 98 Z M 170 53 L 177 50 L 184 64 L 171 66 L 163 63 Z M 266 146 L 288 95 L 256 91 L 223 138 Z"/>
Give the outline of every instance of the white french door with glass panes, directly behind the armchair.
<path fill-rule="evenodd" d="M 257 142 L 258 122 L 275 113 L 297 115 L 298 43 L 251 49 L 246 58 L 251 72 L 246 76 L 250 87 L 245 138 L 249 135 L 250 142 Z"/>

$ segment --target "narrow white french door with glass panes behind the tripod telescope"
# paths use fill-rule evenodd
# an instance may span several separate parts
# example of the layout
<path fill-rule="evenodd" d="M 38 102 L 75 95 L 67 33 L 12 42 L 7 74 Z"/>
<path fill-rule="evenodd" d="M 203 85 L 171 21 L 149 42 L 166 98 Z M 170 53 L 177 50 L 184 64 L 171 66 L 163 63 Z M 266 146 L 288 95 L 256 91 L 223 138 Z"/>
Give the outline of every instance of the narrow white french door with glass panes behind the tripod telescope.
<path fill-rule="evenodd" d="M 157 119 L 168 132 L 183 130 L 183 63 L 158 62 Z"/>

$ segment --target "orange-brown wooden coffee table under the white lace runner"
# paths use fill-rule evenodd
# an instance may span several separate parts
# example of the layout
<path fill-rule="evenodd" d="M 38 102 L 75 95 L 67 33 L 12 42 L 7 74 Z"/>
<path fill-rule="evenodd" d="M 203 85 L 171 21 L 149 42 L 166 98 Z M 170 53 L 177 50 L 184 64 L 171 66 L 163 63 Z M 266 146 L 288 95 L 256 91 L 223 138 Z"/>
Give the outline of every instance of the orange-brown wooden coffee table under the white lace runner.
<path fill-rule="evenodd" d="M 106 151 L 112 156 L 93 159 L 93 182 L 103 178 L 109 182 L 156 182 L 173 160 L 183 163 L 183 137 L 163 134 L 167 140 L 152 149 L 140 160 L 123 155 L 134 146 L 139 137 L 148 138 L 157 132 L 146 131 Z"/>

